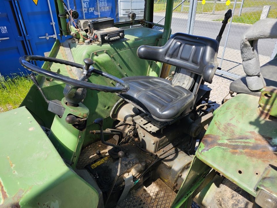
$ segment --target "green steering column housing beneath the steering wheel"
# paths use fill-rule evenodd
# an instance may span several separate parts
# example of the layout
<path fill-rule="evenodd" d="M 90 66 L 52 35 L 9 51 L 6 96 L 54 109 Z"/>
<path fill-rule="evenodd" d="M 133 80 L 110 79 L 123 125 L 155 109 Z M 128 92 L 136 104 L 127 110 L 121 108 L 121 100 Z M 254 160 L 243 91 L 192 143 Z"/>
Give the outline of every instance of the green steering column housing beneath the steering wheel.
<path fill-rule="evenodd" d="M 87 118 L 89 116 L 89 109 L 82 103 L 79 103 L 78 107 L 67 106 L 65 103 L 66 100 L 63 98 L 61 104 L 65 107 L 65 111 L 61 118 L 55 115 L 49 139 L 65 162 L 70 164 L 74 169 L 83 145 L 85 130 L 79 131 L 73 125 L 66 123 L 65 118 L 69 114 L 79 118 Z"/>

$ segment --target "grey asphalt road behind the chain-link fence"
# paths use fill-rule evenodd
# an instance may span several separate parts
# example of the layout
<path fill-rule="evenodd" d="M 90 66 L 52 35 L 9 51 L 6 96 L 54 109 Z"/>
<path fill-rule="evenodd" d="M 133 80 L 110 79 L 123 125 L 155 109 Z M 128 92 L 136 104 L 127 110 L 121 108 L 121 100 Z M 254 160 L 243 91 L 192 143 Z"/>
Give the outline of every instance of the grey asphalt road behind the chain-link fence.
<path fill-rule="evenodd" d="M 154 22 L 157 22 L 161 19 L 161 16 L 154 15 Z M 164 24 L 164 20 L 160 22 Z M 187 19 L 184 18 L 172 18 L 172 34 L 176 32 L 186 32 Z M 212 22 L 212 21 L 199 21 L 196 20 L 194 23 L 194 35 L 207 36 L 209 38 L 216 38 L 218 32 L 220 31 L 222 23 L 221 22 Z M 220 46 L 224 46 L 226 35 L 228 31 L 229 24 L 227 24 L 225 31 L 223 33 Z M 248 25 L 241 24 L 232 24 L 230 28 L 230 34 L 227 42 L 227 47 L 232 49 L 240 50 L 240 39 L 242 34 L 248 28 Z M 274 49 L 276 39 L 265 39 L 259 40 L 258 50 L 259 54 L 271 56 Z"/>

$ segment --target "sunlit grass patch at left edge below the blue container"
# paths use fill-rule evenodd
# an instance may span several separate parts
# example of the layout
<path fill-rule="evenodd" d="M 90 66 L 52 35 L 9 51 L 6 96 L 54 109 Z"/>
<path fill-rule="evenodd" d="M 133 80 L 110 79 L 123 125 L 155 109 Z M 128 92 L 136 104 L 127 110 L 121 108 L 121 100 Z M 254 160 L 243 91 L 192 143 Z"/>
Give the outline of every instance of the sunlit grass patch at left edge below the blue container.
<path fill-rule="evenodd" d="M 29 78 L 18 75 L 0 81 L 0 112 L 17 108 L 32 84 L 33 82 Z"/>

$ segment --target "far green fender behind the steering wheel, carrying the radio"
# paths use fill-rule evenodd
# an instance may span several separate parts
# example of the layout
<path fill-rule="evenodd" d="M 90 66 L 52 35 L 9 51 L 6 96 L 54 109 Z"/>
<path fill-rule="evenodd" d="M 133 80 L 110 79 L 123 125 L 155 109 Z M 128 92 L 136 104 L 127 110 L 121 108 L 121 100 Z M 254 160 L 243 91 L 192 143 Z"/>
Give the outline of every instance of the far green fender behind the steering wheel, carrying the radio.
<path fill-rule="evenodd" d="M 70 43 L 70 48 L 74 61 L 78 64 L 84 64 L 83 59 L 92 58 L 96 64 L 95 68 L 105 71 L 111 75 L 122 78 L 125 76 L 145 76 L 147 73 L 151 76 L 158 76 L 159 71 L 149 69 L 150 61 L 142 60 L 136 55 L 136 50 L 141 45 L 155 45 L 157 39 L 162 37 L 162 32 L 150 28 L 139 27 L 125 30 L 125 38 L 113 42 L 111 44 L 84 44 Z M 54 57 L 67 60 L 67 55 L 62 44 L 59 47 L 53 47 L 55 51 Z M 106 51 L 106 53 L 105 53 Z M 97 55 L 94 55 L 96 52 Z M 113 57 L 112 57 L 113 56 Z M 119 65 L 118 65 L 119 64 Z M 154 62 L 153 68 L 160 70 L 160 63 Z M 158 65 L 158 67 L 156 67 Z M 49 68 L 46 64 L 45 68 Z M 61 74 L 74 77 L 74 74 L 69 67 L 53 63 L 50 67 L 51 71 L 60 71 Z M 126 73 L 126 74 L 125 74 Z M 59 81 L 48 81 L 44 77 L 38 78 L 42 91 L 49 100 L 61 100 L 63 96 L 64 84 Z M 100 75 L 93 74 L 89 78 L 89 82 L 114 86 L 110 79 Z M 98 125 L 94 125 L 93 121 L 96 118 L 104 118 L 104 129 L 111 128 L 113 120 L 109 117 L 113 105 L 119 97 L 115 93 L 98 92 L 95 90 L 87 90 L 87 96 L 84 100 L 84 105 L 89 108 L 90 116 L 87 120 L 87 129 L 83 146 L 99 139 L 99 135 L 92 135 L 90 130 L 99 130 Z M 48 128 L 51 127 L 54 114 L 48 112 L 47 104 L 42 99 L 35 86 L 32 86 L 21 106 L 27 106 L 33 116 L 40 122 L 41 125 Z"/>

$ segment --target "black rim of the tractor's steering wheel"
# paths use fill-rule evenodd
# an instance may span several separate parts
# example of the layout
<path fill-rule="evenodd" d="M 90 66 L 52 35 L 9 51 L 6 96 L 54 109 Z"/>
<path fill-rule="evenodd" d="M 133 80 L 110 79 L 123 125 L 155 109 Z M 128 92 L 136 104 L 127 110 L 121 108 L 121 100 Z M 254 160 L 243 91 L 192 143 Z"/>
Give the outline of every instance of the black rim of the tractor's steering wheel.
<path fill-rule="evenodd" d="M 57 63 L 57 64 L 73 66 L 73 67 L 80 68 L 80 69 L 83 69 L 84 65 L 76 64 L 74 62 L 56 59 L 56 58 L 52 58 L 52 57 L 45 57 L 45 56 L 38 56 L 38 55 L 25 55 L 25 56 L 22 56 L 19 58 L 20 64 L 24 68 L 28 69 L 29 71 L 32 71 L 38 75 L 42 75 L 46 78 L 51 78 L 56 81 L 61 81 L 65 84 L 70 85 L 72 88 L 88 88 L 91 90 L 97 90 L 97 91 L 101 91 L 101 92 L 113 92 L 113 93 L 127 92 L 129 90 L 129 85 L 127 83 L 125 83 L 123 80 L 121 80 L 113 75 L 110 75 L 108 73 L 97 70 L 97 69 L 93 69 L 92 72 L 99 74 L 103 77 L 106 77 L 108 79 L 111 79 L 111 80 L 119 83 L 122 87 L 110 87 L 110 86 L 93 84 L 93 83 L 81 81 L 78 79 L 72 79 L 65 75 L 57 74 L 57 73 L 42 69 L 38 66 L 31 64 L 29 61 L 47 61 L 47 62 L 53 62 L 53 63 Z"/>

